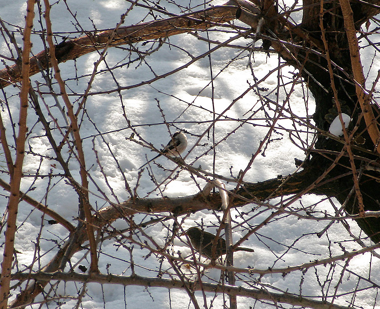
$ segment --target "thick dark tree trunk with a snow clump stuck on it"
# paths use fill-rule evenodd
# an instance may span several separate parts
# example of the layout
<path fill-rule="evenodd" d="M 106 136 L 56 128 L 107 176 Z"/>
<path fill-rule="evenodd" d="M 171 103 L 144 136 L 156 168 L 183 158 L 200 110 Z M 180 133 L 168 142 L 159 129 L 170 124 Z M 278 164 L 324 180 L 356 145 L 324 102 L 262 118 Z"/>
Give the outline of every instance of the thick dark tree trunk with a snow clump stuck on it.
<path fill-rule="evenodd" d="M 375 1 L 373 1 L 375 3 Z M 379 1 L 376 1 L 379 4 Z M 302 26 L 306 31 L 309 31 L 311 35 L 315 38 L 321 38 L 321 24 L 320 24 L 320 1 L 319 0 L 305 0 L 304 5 L 306 8 L 304 10 L 303 23 Z M 328 11 L 329 10 L 329 11 Z M 363 5 L 352 3 L 352 10 L 354 11 L 354 22 L 356 28 L 359 29 L 363 22 L 366 22 L 373 13 L 378 13 L 379 9 L 370 5 Z M 372 142 L 367 126 L 364 121 L 362 114 L 362 109 L 358 103 L 358 97 L 355 89 L 354 81 L 348 80 L 347 76 L 353 76 L 353 69 L 350 61 L 350 51 L 349 42 L 346 35 L 346 29 L 344 24 L 344 18 L 339 5 L 339 1 L 333 1 L 325 4 L 323 14 L 323 28 L 325 29 L 326 41 L 328 44 L 328 51 L 331 60 L 337 64 L 339 67 L 344 69 L 344 73 L 337 67 L 333 68 L 334 73 L 337 77 L 334 79 L 334 84 L 338 93 L 338 100 L 342 107 L 342 112 L 351 116 L 352 122 L 349 129 L 355 130 L 355 123 L 359 119 L 359 128 L 354 135 L 354 140 L 351 145 L 358 145 L 361 148 L 368 150 L 368 152 L 353 150 L 353 153 L 358 156 L 363 156 L 369 160 L 378 160 L 378 155 L 375 152 L 376 145 Z M 328 12 L 327 12 L 328 11 Z M 302 61 L 302 51 L 299 60 Z M 322 130 L 329 130 L 331 121 L 337 115 L 337 107 L 334 101 L 334 92 L 332 89 L 332 83 L 327 69 L 327 61 L 325 58 L 317 57 L 315 54 L 308 54 L 308 57 L 312 61 L 308 61 L 305 64 L 305 68 L 308 72 L 311 72 L 313 77 L 318 81 L 325 89 L 326 92 L 316 81 L 311 79 L 305 72 L 303 72 L 303 77 L 308 80 L 309 89 L 314 95 L 316 100 L 316 112 L 314 114 L 314 120 L 316 126 Z M 375 116 L 378 117 L 378 110 L 374 108 Z M 334 140 L 326 139 L 321 136 L 316 143 L 316 149 L 332 150 L 336 152 L 341 152 L 344 145 L 337 143 Z M 311 160 L 308 162 L 309 165 L 314 166 L 314 168 L 319 167 L 320 173 L 323 172 L 324 166 L 326 164 L 331 164 L 333 156 L 330 158 L 322 156 L 319 154 L 314 154 Z M 337 177 L 348 172 L 350 168 L 349 159 L 342 157 L 339 164 L 329 173 L 329 177 Z M 355 160 L 356 168 L 359 170 L 361 167 L 365 166 L 363 160 Z M 340 178 L 340 187 L 342 187 L 342 192 L 336 195 L 336 198 L 344 203 L 347 199 L 348 193 L 354 186 L 353 175 L 348 175 L 346 177 Z M 364 171 L 364 174 L 360 178 L 359 182 L 360 190 L 363 195 L 363 202 L 365 210 L 380 210 L 379 200 L 380 200 L 380 190 L 379 182 L 377 178 L 371 175 L 371 172 Z M 348 213 L 358 213 L 358 199 L 355 193 L 349 199 L 346 210 Z M 378 218 L 363 218 L 357 220 L 359 226 L 365 231 L 367 235 L 375 242 L 380 241 L 380 219 Z"/>

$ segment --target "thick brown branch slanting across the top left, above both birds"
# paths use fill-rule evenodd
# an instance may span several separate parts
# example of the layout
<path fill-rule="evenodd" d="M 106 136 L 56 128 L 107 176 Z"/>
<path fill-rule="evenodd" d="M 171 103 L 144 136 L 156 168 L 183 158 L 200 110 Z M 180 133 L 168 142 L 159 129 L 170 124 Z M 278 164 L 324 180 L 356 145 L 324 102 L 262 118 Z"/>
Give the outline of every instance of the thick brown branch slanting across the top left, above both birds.
<path fill-rule="evenodd" d="M 233 6 L 232 6 L 233 5 Z M 120 27 L 115 34 L 111 46 L 132 44 L 145 40 L 168 37 L 186 33 L 192 30 L 207 29 L 211 26 L 235 19 L 237 6 L 233 0 L 224 5 L 214 6 L 194 13 L 166 18 L 158 21 L 145 22 L 138 25 Z M 243 14 L 244 16 L 244 14 Z M 69 41 L 63 41 L 55 46 L 55 56 L 58 63 L 76 59 L 82 55 L 98 50 L 107 44 L 115 29 L 87 35 Z M 29 59 L 32 76 L 51 66 L 46 62 L 48 51 L 43 50 Z M 6 67 L 0 71 L 0 87 L 6 87 L 21 80 L 21 72 L 17 65 Z"/>

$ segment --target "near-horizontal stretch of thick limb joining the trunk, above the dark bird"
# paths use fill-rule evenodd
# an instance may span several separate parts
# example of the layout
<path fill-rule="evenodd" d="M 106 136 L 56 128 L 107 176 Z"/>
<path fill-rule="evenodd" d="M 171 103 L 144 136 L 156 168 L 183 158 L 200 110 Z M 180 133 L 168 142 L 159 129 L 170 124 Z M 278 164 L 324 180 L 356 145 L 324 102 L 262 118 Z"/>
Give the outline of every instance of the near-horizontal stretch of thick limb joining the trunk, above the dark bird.
<path fill-rule="evenodd" d="M 263 182 L 250 183 L 245 182 L 244 186 L 233 194 L 235 196 L 232 207 L 239 207 L 249 203 L 284 196 L 289 194 L 314 193 L 319 195 L 338 196 L 341 192 L 334 182 L 326 182 L 321 185 L 315 183 L 312 177 L 318 176 L 317 170 L 312 167 L 297 172 L 284 181 L 283 179 L 274 178 Z M 318 177 L 317 177 L 318 178 Z M 320 178 L 318 178 L 320 179 Z M 229 192 L 232 194 L 232 192 Z M 220 195 L 211 193 L 207 198 L 203 193 L 184 197 L 165 197 L 165 198 L 144 198 L 130 199 L 121 205 L 110 205 L 101 209 L 97 214 L 94 225 L 103 226 L 104 222 L 112 222 L 120 218 L 121 214 L 133 215 L 136 213 L 160 213 L 172 212 L 178 215 L 196 212 L 199 210 L 216 210 L 220 208 Z"/>

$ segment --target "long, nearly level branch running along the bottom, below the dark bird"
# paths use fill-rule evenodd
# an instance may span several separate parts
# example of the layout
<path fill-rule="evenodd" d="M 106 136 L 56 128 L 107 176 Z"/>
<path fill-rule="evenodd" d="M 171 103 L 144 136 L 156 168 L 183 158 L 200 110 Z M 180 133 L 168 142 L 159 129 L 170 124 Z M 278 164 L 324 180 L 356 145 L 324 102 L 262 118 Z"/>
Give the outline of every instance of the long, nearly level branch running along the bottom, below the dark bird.
<path fill-rule="evenodd" d="M 184 289 L 181 280 L 171 280 L 163 278 L 146 278 L 138 275 L 118 276 L 103 274 L 78 274 L 78 273 L 44 273 L 37 272 L 32 274 L 15 274 L 13 280 L 26 280 L 28 278 L 34 280 L 61 280 L 65 282 L 96 282 L 99 284 L 118 284 L 123 286 L 142 286 L 142 287 L 158 287 L 168 289 Z M 313 309 L 350 309 L 351 307 L 339 306 L 326 301 L 316 301 L 309 298 L 300 297 L 290 293 L 272 293 L 262 289 L 247 289 L 243 287 L 233 287 L 229 285 L 219 285 L 212 283 L 202 283 L 202 287 L 198 282 L 189 282 L 190 291 L 204 291 L 211 293 L 228 293 L 234 296 L 249 297 L 256 300 L 265 300 L 274 303 L 290 304 L 292 306 L 307 307 Z"/>

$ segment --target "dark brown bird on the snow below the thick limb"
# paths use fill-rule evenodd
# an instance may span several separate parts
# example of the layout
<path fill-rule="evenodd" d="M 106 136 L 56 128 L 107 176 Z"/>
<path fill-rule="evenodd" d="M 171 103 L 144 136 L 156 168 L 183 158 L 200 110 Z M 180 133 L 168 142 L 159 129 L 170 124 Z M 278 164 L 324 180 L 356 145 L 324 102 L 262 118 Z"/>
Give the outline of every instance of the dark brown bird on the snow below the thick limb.
<path fill-rule="evenodd" d="M 211 259 L 212 241 L 215 239 L 215 235 L 202 231 L 197 227 L 191 227 L 186 231 L 186 234 L 188 234 L 190 238 L 192 247 L 204 257 Z M 254 252 L 253 249 L 243 247 L 237 247 L 234 251 Z M 215 258 L 223 254 L 226 254 L 225 240 L 219 238 L 216 243 Z"/>

